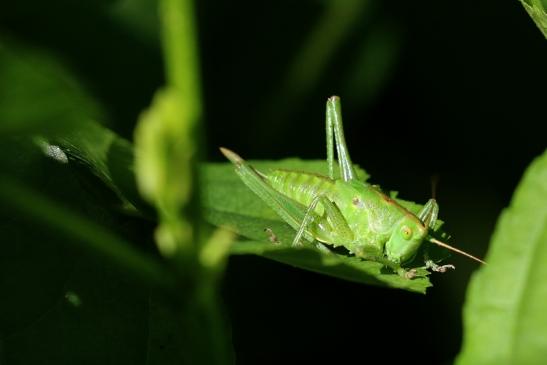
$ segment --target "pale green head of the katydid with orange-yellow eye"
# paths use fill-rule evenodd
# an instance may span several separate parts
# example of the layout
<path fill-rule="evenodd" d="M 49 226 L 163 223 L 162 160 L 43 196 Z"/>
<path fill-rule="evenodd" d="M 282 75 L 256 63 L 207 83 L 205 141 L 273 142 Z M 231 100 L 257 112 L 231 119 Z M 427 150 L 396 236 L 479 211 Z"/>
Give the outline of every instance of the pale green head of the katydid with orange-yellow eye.
<path fill-rule="evenodd" d="M 427 236 L 427 228 L 415 216 L 403 216 L 395 225 L 386 242 L 385 252 L 388 260 L 397 264 L 410 261 L 418 252 Z"/>

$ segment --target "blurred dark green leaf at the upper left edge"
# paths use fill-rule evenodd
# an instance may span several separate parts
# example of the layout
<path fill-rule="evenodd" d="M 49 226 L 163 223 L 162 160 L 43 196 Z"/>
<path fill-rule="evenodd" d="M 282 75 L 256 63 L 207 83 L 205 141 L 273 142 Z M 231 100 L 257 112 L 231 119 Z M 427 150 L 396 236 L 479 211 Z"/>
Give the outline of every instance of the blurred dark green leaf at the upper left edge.
<path fill-rule="evenodd" d="M 59 61 L 3 38 L 0 80 L 0 135 L 65 133 L 101 114 Z"/>

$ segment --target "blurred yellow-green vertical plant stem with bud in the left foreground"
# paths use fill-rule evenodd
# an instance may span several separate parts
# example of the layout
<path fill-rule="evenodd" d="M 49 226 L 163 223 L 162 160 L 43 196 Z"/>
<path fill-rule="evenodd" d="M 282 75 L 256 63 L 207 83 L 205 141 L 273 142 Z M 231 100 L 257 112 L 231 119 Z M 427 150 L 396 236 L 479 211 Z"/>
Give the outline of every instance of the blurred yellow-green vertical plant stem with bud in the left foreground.
<path fill-rule="evenodd" d="M 228 364 L 232 349 L 217 283 L 231 235 L 206 238 L 201 229 L 196 161 L 202 104 L 193 2 L 160 0 L 159 6 L 167 85 L 135 133 L 137 176 L 141 193 L 159 213 L 158 246 L 175 259 L 181 282 L 188 284 L 175 310 L 186 362 Z"/>

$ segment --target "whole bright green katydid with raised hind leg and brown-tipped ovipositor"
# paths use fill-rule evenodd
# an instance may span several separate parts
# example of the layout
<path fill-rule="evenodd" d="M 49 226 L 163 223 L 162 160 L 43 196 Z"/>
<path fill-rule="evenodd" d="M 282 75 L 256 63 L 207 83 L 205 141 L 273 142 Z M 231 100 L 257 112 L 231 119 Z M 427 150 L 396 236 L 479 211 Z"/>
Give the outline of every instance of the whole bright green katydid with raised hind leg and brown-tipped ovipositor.
<path fill-rule="evenodd" d="M 408 278 L 413 277 L 414 270 L 406 271 L 402 265 L 412 261 L 424 241 L 484 263 L 432 236 L 439 213 L 435 199 L 415 215 L 377 186 L 357 179 L 337 96 L 327 100 L 326 132 L 328 176 L 291 170 L 265 174 L 235 152 L 220 148 L 235 165 L 241 180 L 296 230 L 293 246 L 300 246 L 302 238 L 318 241 L 319 245 L 343 246 L 358 257 L 380 262 Z M 340 178 L 334 174 L 334 143 Z M 426 259 L 426 268 L 444 272 L 453 266 L 438 266 Z"/>

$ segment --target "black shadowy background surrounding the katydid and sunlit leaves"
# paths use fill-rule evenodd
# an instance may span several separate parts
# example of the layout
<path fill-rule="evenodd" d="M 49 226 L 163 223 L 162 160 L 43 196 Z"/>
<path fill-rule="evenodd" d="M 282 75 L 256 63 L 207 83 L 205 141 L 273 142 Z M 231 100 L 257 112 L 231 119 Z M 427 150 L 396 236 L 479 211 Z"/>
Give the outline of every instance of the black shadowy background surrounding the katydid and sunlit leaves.
<path fill-rule="evenodd" d="M 128 139 L 163 84 L 155 5 L 133 3 L 0 5 L 0 31 L 58 56 Z M 340 95 L 354 162 L 418 202 L 438 175 L 452 242 L 485 255 L 497 216 L 546 147 L 545 39 L 518 1 L 355 2 L 326 21 L 332 32 L 347 27 L 335 46 L 300 68 L 295 59 L 325 21 L 327 1 L 197 3 L 207 160 L 222 161 L 221 145 L 249 159 L 323 158 L 324 104 Z M 315 67 L 318 77 L 299 81 Z M 477 268 L 449 262 L 457 270 L 433 275 L 421 296 L 232 258 L 223 294 L 238 363 L 331 354 L 449 362 Z"/>

